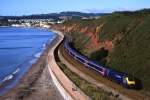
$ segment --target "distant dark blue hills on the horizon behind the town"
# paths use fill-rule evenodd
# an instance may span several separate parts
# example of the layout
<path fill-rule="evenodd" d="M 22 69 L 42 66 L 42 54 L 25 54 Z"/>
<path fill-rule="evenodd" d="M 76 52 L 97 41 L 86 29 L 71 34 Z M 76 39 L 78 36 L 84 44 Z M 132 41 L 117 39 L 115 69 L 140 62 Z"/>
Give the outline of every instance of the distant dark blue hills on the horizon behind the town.
<path fill-rule="evenodd" d="M 34 14 L 34 15 L 24 15 L 24 16 L 0 16 L 6 19 L 13 19 L 13 20 L 20 20 L 20 19 L 61 19 L 61 17 L 68 17 L 68 18 L 82 18 L 82 17 L 96 17 L 96 16 L 103 16 L 107 13 L 82 13 L 82 12 L 60 12 L 60 13 L 49 13 L 49 14 Z"/>

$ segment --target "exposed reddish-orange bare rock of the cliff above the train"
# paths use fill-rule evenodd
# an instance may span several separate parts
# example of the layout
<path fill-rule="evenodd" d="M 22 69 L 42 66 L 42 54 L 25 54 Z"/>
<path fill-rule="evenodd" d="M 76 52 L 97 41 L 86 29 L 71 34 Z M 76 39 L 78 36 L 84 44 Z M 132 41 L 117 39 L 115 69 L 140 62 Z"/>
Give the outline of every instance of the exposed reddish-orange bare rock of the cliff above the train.
<path fill-rule="evenodd" d="M 97 26 L 84 26 L 81 27 L 80 24 L 72 23 L 71 25 L 63 24 L 63 25 L 55 25 L 53 26 L 53 29 L 60 30 L 64 33 L 80 33 L 84 34 L 85 37 L 89 37 L 89 41 L 86 45 L 84 45 L 84 48 L 86 50 L 90 50 L 90 48 L 94 48 L 93 50 L 97 50 L 99 48 L 106 48 L 109 51 L 112 51 L 114 44 L 111 40 L 104 40 L 101 41 L 99 39 L 99 33 L 101 32 L 103 25 L 97 25 Z M 80 36 L 80 35 L 79 35 Z"/>

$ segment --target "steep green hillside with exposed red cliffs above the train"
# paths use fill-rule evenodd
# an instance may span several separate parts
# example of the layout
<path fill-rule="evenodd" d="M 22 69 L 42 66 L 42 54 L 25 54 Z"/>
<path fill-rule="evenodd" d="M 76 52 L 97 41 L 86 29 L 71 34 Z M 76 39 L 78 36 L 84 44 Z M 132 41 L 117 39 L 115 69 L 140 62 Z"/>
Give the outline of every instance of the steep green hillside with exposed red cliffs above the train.
<path fill-rule="evenodd" d="M 74 19 L 53 28 L 68 33 L 82 54 L 142 81 L 150 92 L 150 10 Z"/>

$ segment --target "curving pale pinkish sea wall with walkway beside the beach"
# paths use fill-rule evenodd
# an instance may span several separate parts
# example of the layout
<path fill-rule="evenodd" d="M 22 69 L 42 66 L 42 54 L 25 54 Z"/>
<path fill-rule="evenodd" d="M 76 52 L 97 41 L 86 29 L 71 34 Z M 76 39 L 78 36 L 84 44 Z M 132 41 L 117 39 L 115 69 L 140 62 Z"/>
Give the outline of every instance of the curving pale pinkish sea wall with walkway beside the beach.
<path fill-rule="evenodd" d="M 85 94 L 81 93 L 81 90 L 75 86 L 75 84 L 62 72 L 57 65 L 54 57 L 54 51 L 62 42 L 64 36 L 61 32 L 54 32 L 58 34 L 58 37 L 55 41 L 55 45 L 49 51 L 47 58 L 47 67 L 49 68 L 52 80 L 65 100 L 88 100 L 89 98 Z"/>

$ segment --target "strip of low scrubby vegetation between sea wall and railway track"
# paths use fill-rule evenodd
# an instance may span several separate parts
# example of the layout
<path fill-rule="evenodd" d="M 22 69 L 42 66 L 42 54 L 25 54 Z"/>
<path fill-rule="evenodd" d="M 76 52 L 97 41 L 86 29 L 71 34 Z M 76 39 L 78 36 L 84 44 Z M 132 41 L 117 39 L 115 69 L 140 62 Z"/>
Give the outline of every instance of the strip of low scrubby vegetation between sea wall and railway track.
<path fill-rule="evenodd" d="M 63 63 L 58 63 L 61 70 L 71 79 L 77 87 L 79 87 L 86 95 L 88 95 L 92 100 L 117 100 L 118 95 L 113 96 L 113 94 L 107 93 L 102 89 L 95 87 L 94 85 L 88 83 L 84 79 L 80 78 L 75 73 L 71 72 Z"/>

